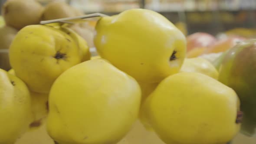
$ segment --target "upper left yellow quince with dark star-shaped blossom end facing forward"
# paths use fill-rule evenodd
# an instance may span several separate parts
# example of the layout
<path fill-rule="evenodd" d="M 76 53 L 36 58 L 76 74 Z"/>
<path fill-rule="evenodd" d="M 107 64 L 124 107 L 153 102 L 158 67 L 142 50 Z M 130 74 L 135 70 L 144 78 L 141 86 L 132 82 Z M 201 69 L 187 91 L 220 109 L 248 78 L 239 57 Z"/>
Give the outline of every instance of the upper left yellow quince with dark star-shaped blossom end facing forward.
<path fill-rule="evenodd" d="M 31 91 L 49 93 L 62 72 L 85 60 L 83 56 L 89 49 L 84 50 L 76 42 L 67 33 L 50 26 L 26 26 L 10 46 L 10 64 Z"/>

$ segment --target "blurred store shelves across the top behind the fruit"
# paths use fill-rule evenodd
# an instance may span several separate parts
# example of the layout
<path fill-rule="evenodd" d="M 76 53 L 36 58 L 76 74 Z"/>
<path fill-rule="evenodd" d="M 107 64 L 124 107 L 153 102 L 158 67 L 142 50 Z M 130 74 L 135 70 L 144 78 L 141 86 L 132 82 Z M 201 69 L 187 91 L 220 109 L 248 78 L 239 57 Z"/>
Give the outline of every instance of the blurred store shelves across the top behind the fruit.
<path fill-rule="evenodd" d="M 3 4 L 6 0 L 0 0 Z M 53 0 L 38 0 L 48 3 Z M 173 23 L 184 23 L 187 33 L 217 35 L 230 29 L 256 27 L 256 0 L 60 0 L 84 13 L 114 15 L 131 8 L 155 10 Z M 249 33 L 249 32 L 247 32 Z"/>

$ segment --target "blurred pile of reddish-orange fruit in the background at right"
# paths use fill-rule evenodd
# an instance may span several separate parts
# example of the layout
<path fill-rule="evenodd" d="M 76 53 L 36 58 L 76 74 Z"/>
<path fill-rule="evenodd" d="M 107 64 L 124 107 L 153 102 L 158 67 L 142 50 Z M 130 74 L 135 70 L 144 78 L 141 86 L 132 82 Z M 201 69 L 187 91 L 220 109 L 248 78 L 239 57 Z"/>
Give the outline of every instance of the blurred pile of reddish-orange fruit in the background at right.
<path fill-rule="evenodd" d="M 217 34 L 216 37 L 208 33 L 193 33 L 187 36 L 187 58 L 225 52 L 237 43 L 255 37 L 256 29 L 242 27 L 224 31 Z"/>

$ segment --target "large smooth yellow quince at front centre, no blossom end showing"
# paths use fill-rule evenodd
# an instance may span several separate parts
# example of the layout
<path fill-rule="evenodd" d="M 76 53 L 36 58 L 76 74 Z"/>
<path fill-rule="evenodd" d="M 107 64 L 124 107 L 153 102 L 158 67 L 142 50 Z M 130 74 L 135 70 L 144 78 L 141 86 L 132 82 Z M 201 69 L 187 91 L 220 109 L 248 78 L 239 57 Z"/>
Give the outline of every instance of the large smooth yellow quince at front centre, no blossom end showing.
<path fill-rule="evenodd" d="M 141 89 L 103 59 L 63 72 L 49 94 L 47 131 L 59 144 L 116 144 L 138 118 Z"/>

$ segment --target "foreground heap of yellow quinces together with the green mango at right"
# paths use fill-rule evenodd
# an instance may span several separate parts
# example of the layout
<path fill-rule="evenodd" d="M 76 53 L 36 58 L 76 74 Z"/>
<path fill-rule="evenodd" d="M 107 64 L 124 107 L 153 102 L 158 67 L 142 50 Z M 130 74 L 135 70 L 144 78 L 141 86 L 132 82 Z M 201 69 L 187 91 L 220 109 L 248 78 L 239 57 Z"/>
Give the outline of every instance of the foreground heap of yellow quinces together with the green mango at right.
<path fill-rule="evenodd" d="M 256 40 L 216 66 L 186 58 L 186 37 L 164 16 L 131 9 L 101 17 L 94 45 L 97 57 L 66 24 L 20 29 L 12 69 L 0 69 L 0 144 L 226 144 L 254 134 Z M 47 138 L 28 142 L 34 131 Z"/>

